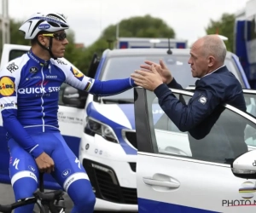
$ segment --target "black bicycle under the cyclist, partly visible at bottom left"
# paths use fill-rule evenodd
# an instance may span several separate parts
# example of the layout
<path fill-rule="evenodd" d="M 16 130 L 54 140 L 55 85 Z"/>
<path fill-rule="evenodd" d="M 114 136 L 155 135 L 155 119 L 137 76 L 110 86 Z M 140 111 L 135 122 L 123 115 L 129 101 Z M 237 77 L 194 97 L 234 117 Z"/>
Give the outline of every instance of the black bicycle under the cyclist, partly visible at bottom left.
<path fill-rule="evenodd" d="M 26 204 L 38 204 L 40 213 L 65 213 L 65 204 L 63 199 L 64 192 L 59 189 L 44 193 L 44 174 L 39 175 L 39 190 L 33 193 L 33 197 L 19 199 L 13 204 L 0 204 L 0 212 L 11 213 L 12 210 L 26 205 Z M 33 211 L 35 212 L 35 211 Z"/>

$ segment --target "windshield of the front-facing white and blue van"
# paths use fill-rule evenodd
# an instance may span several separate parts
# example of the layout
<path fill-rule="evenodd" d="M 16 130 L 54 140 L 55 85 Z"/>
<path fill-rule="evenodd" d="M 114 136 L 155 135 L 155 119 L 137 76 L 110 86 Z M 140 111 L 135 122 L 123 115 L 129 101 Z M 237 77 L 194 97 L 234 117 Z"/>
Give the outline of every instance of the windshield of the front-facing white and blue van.
<path fill-rule="evenodd" d="M 195 85 L 195 81 L 198 78 L 193 78 L 190 65 L 188 64 L 189 55 L 125 55 L 115 56 L 107 60 L 104 66 L 104 72 L 102 72 L 101 80 L 111 80 L 117 78 L 128 78 L 131 73 L 140 68 L 145 60 L 151 60 L 159 63 L 159 60 L 164 60 L 164 63 L 170 71 L 172 71 L 173 77 L 180 83 L 185 89 L 189 85 Z M 236 68 L 232 60 L 226 58 L 225 65 L 233 73 L 236 72 Z M 239 76 L 236 75 L 236 78 Z M 119 95 L 112 95 L 104 97 L 104 100 L 126 100 L 133 101 L 133 89 L 129 89 Z"/>

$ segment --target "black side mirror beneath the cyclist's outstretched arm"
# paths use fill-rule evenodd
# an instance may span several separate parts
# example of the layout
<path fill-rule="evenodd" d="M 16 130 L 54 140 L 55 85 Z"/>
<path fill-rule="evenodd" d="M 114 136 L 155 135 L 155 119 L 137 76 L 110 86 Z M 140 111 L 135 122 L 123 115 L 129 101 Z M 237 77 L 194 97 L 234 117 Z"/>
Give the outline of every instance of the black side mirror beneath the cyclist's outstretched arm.
<path fill-rule="evenodd" d="M 87 92 L 67 86 L 63 90 L 62 102 L 68 107 L 84 108 L 87 96 Z"/>

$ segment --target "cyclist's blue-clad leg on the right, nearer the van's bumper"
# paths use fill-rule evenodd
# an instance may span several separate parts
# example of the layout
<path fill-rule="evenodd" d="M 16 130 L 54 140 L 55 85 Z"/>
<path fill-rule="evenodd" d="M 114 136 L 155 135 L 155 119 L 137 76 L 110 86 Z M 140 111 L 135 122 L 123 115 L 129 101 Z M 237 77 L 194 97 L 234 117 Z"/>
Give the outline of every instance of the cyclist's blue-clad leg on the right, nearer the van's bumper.
<path fill-rule="evenodd" d="M 58 143 L 55 151 L 51 153 L 51 158 L 55 161 L 55 171 L 52 175 L 73 200 L 72 213 L 92 213 L 96 198 L 83 165 L 60 133 L 52 135 L 55 135 L 55 141 Z"/>

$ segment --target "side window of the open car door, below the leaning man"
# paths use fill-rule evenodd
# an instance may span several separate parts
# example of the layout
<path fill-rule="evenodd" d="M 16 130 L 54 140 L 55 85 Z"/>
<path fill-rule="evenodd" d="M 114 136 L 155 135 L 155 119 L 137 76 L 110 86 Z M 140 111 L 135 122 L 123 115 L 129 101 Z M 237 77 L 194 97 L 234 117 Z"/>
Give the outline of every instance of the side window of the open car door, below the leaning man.
<path fill-rule="evenodd" d="M 174 94 L 187 104 L 191 96 Z M 215 163 L 230 164 L 247 145 L 256 146 L 256 126 L 253 122 L 233 112 L 228 107 L 218 107 L 212 115 L 189 132 L 181 132 L 168 118 L 158 103 L 158 98 L 148 103 L 152 123 L 153 142 L 158 153 L 177 155 Z"/>

